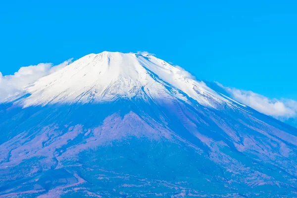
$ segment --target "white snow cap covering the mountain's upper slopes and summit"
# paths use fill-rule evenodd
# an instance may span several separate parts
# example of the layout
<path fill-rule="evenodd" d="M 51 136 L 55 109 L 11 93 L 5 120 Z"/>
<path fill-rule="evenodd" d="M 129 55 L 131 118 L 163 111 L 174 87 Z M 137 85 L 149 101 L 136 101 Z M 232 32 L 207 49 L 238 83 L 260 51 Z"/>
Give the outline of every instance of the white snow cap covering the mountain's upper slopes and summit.
<path fill-rule="evenodd" d="M 86 55 L 26 88 L 24 106 L 48 103 L 104 102 L 118 98 L 195 99 L 216 107 L 229 100 L 189 73 L 148 53 L 103 51 Z"/>

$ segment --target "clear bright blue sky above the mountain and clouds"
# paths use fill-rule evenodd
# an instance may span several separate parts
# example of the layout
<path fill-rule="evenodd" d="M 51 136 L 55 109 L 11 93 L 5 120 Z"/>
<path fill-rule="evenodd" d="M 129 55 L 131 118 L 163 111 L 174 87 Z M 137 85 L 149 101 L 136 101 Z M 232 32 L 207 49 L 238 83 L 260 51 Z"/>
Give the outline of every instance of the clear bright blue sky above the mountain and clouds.
<path fill-rule="evenodd" d="M 1 0 L 0 71 L 145 50 L 198 79 L 297 99 L 297 1 Z"/>

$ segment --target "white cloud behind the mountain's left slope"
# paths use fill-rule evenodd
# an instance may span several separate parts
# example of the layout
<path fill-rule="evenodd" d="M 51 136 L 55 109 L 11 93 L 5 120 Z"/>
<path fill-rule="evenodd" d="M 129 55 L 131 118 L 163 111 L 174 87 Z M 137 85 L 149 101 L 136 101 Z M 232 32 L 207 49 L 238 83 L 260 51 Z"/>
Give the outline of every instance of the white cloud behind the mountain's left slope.
<path fill-rule="evenodd" d="M 58 65 L 39 63 L 38 65 L 21 67 L 13 75 L 3 76 L 0 72 L 0 101 L 22 92 L 26 86 L 38 79 L 64 68 L 71 63 L 71 60 L 72 58 Z"/>

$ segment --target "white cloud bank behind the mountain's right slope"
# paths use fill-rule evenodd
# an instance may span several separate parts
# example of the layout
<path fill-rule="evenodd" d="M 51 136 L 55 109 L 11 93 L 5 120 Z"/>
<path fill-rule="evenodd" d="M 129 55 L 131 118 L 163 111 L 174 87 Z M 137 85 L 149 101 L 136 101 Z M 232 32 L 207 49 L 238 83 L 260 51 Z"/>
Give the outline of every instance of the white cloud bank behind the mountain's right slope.
<path fill-rule="evenodd" d="M 235 88 L 218 86 L 226 90 L 230 97 L 246 104 L 255 110 L 266 115 L 273 116 L 279 120 L 285 121 L 289 118 L 297 117 L 297 101 L 292 99 L 269 99 L 260 94 L 251 91 L 244 91 Z"/>

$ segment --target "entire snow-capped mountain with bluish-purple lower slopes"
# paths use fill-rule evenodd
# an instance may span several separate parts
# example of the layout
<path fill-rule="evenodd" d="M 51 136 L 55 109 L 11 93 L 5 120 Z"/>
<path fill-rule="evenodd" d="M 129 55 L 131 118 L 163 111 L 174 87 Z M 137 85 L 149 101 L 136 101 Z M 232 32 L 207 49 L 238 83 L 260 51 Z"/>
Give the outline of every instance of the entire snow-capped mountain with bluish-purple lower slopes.
<path fill-rule="evenodd" d="M 41 78 L 0 132 L 0 197 L 297 197 L 297 128 L 150 54 Z"/>

